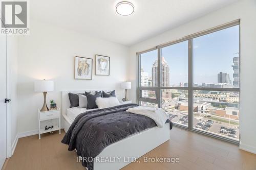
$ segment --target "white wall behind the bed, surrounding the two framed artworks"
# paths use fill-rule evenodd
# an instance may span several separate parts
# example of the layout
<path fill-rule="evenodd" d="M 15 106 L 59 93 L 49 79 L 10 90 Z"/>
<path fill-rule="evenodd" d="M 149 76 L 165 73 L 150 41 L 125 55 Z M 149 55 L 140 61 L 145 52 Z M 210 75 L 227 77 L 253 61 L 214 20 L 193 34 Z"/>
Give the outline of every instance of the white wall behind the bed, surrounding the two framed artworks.
<path fill-rule="evenodd" d="M 35 80 L 54 80 L 54 92 L 47 94 L 61 108 L 62 90 L 116 89 L 124 96 L 120 82 L 127 78 L 129 48 L 31 20 L 30 35 L 18 43 L 18 132 L 38 129 L 37 109 L 42 93 L 34 92 Z M 74 26 L 76 27 L 76 26 Z M 110 56 L 110 76 L 95 76 L 95 55 Z M 74 79 L 74 56 L 93 58 L 93 80 Z"/>

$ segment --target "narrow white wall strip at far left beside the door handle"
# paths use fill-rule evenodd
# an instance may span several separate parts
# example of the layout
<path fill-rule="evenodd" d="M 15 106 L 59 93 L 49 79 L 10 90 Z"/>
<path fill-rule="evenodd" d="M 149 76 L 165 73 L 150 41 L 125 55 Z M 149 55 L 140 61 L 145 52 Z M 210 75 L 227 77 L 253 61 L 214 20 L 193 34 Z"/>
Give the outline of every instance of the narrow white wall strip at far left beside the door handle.
<path fill-rule="evenodd" d="M 7 141 L 7 156 L 11 156 L 10 150 L 15 148 L 17 137 L 17 70 L 18 70 L 18 37 L 7 37 L 7 55 L 8 55 L 8 98 L 11 102 L 8 104 L 8 116 L 10 117 L 10 141 Z M 8 139 L 7 139 L 8 140 Z"/>

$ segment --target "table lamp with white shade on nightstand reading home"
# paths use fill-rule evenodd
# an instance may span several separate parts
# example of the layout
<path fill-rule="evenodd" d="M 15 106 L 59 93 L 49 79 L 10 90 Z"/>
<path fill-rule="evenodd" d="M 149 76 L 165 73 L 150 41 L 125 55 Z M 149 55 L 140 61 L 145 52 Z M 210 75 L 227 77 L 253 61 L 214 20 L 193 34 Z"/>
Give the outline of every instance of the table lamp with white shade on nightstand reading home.
<path fill-rule="evenodd" d="M 46 104 L 46 94 L 48 91 L 53 91 L 53 81 L 50 80 L 38 80 L 34 82 L 34 88 L 35 92 L 42 92 L 44 94 L 44 105 L 42 105 L 42 108 L 40 111 L 48 111 L 49 108 Z"/>

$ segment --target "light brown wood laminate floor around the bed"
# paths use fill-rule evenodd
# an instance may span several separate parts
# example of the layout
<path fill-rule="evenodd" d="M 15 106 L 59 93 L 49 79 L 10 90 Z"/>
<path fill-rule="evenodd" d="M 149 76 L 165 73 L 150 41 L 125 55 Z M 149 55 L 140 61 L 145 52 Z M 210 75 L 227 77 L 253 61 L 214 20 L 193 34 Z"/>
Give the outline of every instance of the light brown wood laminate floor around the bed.
<path fill-rule="evenodd" d="M 62 130 L 61 134 L 57 131 L 42 134 L 40 140 L 38 135 L 20 138 L 13 156 L 6 161 L 4 170 L 84 170 L 81 163 L 76 161 L 75 151 L 69 152 L 67 145 L 60 142 L 64 134 Z M 144 157 L 172 157 L 179 158 L 180 162 L 143 163 Z M 174 127 L 170 131 L 169 141 L 122 168 L 144 169 L 255 170 L 256 155 L 239 150 L 237 145 Z"/>

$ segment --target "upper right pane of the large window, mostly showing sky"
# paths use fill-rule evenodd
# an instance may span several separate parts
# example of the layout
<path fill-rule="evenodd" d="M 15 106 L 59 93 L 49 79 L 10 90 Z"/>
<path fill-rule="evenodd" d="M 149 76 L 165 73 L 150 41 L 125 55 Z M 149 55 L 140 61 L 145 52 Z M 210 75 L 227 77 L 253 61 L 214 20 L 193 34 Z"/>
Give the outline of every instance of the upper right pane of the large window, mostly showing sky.
<path fill-rule="evenodd" d="M 239 87 L 239 26 L 193 39 L 194 87 Z"/>

